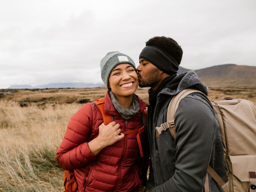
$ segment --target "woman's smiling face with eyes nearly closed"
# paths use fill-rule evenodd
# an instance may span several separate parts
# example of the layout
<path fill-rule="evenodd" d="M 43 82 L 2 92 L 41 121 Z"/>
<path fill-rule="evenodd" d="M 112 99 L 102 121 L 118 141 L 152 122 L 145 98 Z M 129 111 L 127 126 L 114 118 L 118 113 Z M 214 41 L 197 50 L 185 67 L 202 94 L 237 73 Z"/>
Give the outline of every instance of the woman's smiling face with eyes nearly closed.
<path fill-rule="evenodd" d="M 129 97 L 139 85 L 137 72 L 128 63 L 117 65 L 110 73 L 109 87 L 116 98 Z"/>

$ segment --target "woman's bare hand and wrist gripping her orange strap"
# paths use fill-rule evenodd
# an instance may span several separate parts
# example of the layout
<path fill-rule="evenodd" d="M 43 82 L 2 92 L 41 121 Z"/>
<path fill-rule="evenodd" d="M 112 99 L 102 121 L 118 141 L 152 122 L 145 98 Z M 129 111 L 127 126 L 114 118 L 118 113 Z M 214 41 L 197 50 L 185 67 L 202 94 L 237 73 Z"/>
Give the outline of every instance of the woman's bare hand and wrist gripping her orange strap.
<path fill-rule="evenodd" d="M 119 129 L 120 125 L 112 121 L 108 125 L 103 123 L 99 126 L 99 135 L 88 143 L 88 147 L 93 155 L 97 155 L 103 148 L 113 145 L 124 138 L 124 134 Z"/>

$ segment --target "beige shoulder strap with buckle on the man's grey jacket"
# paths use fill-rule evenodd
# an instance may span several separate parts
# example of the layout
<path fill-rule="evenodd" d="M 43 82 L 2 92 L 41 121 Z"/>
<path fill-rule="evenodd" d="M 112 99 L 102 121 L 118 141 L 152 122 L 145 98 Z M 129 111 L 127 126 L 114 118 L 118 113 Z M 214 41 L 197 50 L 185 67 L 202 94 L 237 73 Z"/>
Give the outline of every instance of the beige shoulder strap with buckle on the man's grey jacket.
<path fill-rule="evenodd" d="M 175 125 L 174 125 L 174 117 L 175 112 L 179 106 L 180 100 L 185 98 L 187 95 L 191 93 L 200 93 L 203 96 L 205 96 L 208 99 L 208 97 L 202 93 L 201 91 L 198 91 L 196 89 L 184 89 L 177 95 L 173 96 L 171 102 L 169 103 L 168 110 L 167 110 L 167 121 L 160 125 L 160 127 L 156 127 L 156 131 L 158 134 L 161 134 L 162 131 L 165 131 L 166 129 L 169 129 L 171 132 L 171 135 L 173 138 L 176 137 L 176 131 L 175 131 Z"/>

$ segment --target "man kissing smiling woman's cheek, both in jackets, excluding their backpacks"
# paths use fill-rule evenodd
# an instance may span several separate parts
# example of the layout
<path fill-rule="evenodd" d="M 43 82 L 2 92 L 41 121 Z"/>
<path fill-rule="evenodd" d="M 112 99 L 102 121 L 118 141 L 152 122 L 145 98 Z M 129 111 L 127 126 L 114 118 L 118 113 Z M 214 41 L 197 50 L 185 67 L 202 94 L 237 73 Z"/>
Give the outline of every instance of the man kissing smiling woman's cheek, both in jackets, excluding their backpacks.
<path fill-rule="evenodd" d="M 104 125 L 97 106 L 85 104 L 71 117 L 57 150 L 60 167 L 75 170 L 78 192 L 203 192 L 208 164 L 225 179 L 219 125 L 202 95 L 188 95 L 179 103 L 175 139 L 169 131 L 156 133 L 155 127 L 166 122 L 174 95 L 186 88 L 208 93 L 193 71 L 177 75 L 182 53 L 172 38 L 154 37 L 141 51 L 137 68 L 120 52 L 101 60 L 101 77 L 108 89 L 105 113 L 113 121 Z M 151 87 L 147 127 L 139 135 L 144 156 L 137 133 L 123 133 L 143 126 L 147 105 L 134 94 L 138 85 Z M 210 176 L 209 183 L 211 192 L 222 191 Z"/>

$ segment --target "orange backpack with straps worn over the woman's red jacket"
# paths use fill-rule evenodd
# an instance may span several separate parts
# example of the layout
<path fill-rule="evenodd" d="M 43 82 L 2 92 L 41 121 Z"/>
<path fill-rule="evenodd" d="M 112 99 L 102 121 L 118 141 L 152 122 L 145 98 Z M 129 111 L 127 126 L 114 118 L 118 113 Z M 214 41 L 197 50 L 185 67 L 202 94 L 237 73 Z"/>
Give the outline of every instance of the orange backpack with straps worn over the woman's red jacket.
<path fill-rule="evenodd" d="M 92 103 L 99 108 L 100 113 L 103 118 L 103 123 L 105 125 L 108 125 L 110 122 L 113 121 L 113 119 L 114 119 L 113 116 L 105 113 L 105 99 L 104 98 L 96 99 L 96 100 L 92 101 Z M 141 157 L 143 157 L 143 151 L 142 151 L 142 145 L 141 145 L 141 141 L 140 141 L 140 134 L 144 131 L 144 127 L 146 126 L 146 122 L 147 122 L 147 110 L 146 109 L 144 109 L 143 114 L 144 115 L 141 115 L 142 123 L 143 123 L 143 126 L 141 128 L 122 132 L 123 134 L 137 133 L 137 141 L 138 141 Z M 63 185 L 64 185 L 64 189 L 65 189 L 63 192 L 75 192 L 77 190 L 78 186 L 77 186 L 74 171 L 64 170 Z"/>

